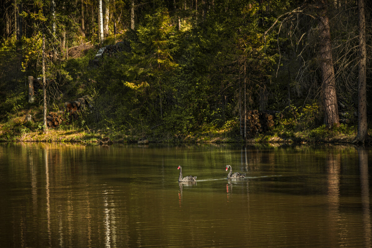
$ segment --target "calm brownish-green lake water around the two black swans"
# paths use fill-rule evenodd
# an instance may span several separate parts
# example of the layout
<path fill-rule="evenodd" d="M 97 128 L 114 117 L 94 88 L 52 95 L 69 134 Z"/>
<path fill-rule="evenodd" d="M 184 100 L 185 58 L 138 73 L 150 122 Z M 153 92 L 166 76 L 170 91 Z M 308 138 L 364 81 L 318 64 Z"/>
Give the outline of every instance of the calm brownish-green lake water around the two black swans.
<path fill-rule="evenodd" d="M 371 162 L 354 146 L 0 144 L 0 247 L 371 247 Z"/>

